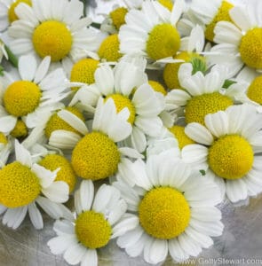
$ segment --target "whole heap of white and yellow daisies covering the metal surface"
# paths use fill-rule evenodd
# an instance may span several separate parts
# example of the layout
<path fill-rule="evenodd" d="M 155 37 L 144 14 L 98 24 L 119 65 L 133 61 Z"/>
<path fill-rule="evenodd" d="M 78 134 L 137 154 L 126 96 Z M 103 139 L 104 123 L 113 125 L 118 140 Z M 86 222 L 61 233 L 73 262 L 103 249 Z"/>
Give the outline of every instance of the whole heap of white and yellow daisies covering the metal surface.
<path fill-rule="evenodd" d="M 262 192 L 262 1 L 87 2 L 0 0 L 1 221 L 46 213 L 72 265 L 184 262 Z"/>

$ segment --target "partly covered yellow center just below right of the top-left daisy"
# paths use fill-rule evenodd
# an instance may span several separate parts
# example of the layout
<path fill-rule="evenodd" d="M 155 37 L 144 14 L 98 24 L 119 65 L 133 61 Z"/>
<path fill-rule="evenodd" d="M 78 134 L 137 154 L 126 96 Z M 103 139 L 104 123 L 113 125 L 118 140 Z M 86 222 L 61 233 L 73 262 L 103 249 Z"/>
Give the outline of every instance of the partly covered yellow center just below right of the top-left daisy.
<path fill-rule="evenodd" d="M 95 82 L 94 74 L 99 66 L 99 61 L 95 59 L 81 59 L 75 63 L 71 70 L 71 82 L 83 82 L 92 84 Z M 72 90 L 78 90 L 74 87 Z"/>

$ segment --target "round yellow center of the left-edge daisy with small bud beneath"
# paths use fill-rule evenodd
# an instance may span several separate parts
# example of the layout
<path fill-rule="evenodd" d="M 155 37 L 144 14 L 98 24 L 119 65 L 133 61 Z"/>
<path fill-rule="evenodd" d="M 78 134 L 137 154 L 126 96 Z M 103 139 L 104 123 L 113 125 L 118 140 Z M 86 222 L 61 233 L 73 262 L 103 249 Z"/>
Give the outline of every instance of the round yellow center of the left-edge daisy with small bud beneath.
<path fill-rule="evenodd" d="M 4 92 L 4 107 L 14 116 L 23 116 L 39 106 L 41 90 L 34 82 L 13 82 Z"/>

